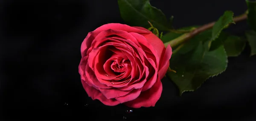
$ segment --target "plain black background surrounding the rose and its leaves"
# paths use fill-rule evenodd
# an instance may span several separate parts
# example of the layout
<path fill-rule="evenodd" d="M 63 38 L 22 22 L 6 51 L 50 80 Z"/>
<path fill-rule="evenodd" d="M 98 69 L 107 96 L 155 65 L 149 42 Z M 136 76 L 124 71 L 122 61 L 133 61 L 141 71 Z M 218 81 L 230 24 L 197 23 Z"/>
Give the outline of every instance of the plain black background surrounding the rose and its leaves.
<path fill-rule="evenodd" d="M 225 10 L 247 9 L 244 0 L 151 0 L 180 28 L 215 21 Z M 226 72 L 195 92 L 178 96 L 164 78 L 155 107 L 127 109 L 92 101 L 78 65 L 87 33 L 106 23 L 124 23 L 117 0 L 5 0 L 0 2 L 0 119 L 51 120 L 256 120 L 256 56 L 250 47 L 229 58 Z M 227 29 L 244 35 L 246 21 Z M 65 105 L 66 103 L 66 105 Z M 68 104 L 68 105 L 67 105 Z M 123 119 L 125 117 L 126 119 Z"/>

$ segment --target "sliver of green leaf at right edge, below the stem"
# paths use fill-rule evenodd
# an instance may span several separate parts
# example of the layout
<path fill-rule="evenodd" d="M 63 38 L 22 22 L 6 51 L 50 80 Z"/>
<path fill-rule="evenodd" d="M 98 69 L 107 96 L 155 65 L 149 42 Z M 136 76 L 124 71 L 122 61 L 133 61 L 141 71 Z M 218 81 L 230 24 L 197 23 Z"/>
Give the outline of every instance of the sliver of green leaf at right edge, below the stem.
<path fill-rule="evenodd" d="M 250 45 L 250 49 L 251 49 L 251 56 L 252 55 L 256 55 L 256 32 L 255 31 L 247 31 L 245 33 L 249 45 Z"/>

